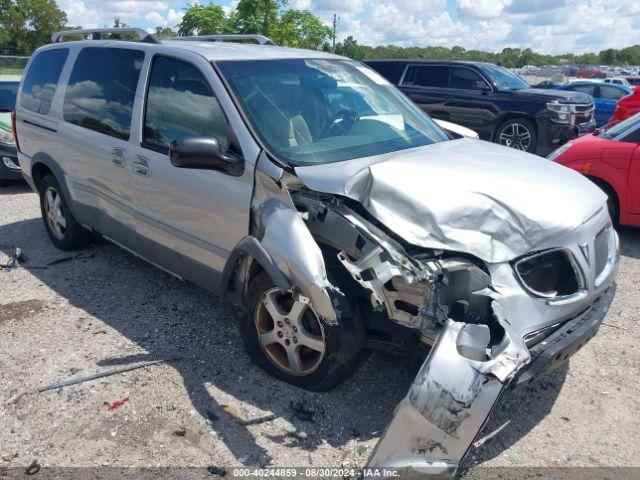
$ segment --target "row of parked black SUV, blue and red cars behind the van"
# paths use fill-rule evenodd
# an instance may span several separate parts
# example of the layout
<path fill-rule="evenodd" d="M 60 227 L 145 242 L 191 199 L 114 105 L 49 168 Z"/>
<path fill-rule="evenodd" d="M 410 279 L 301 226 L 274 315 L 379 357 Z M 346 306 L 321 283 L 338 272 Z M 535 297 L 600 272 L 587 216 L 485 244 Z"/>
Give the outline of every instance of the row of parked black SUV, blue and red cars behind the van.
<path fill-rule="evenodd" d="M 432 117 L 587 175 L 607 193 L 615 221 L 640 226 L 640 87 L 583 80 L 532 88 L 503 67 L 475 62 L 367 64 Z"/>

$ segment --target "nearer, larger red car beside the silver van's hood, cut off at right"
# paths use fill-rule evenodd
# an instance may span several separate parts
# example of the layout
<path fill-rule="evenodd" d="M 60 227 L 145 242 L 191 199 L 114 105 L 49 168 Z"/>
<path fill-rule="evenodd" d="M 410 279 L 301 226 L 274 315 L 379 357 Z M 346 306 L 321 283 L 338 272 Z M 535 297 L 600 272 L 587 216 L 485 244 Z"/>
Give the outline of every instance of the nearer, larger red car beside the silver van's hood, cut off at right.
<path fill-rule="evenodd" d="M 547 158 L 604 190 L 614 222 L 640 227 L 640 113 L 565 143 Z"/>

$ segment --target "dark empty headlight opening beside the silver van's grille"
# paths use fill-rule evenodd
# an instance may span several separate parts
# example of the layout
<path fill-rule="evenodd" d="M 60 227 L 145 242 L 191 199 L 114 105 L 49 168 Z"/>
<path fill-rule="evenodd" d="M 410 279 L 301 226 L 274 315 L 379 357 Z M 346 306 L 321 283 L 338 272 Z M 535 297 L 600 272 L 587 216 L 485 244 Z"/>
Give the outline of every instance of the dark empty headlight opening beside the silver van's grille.
<path fill-rule="evenodd" d="M 514 268 L 522 285 L 538 297 L 564 297 L 584 288 L 573 254 L 564 249 L 525 257 L 518 260 Z"/>

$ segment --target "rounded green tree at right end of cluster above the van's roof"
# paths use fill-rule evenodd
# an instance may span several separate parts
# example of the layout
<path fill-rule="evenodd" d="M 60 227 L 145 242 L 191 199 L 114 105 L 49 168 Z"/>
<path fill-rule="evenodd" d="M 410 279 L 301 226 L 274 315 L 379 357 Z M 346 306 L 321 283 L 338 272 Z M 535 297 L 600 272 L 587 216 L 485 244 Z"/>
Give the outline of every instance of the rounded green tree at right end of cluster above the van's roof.
<path fill-rule="evenodd" d="M 271 29 L 271 38 L 278 45 L 319 49 L 332 34 L 331 28 L 309 10 L 287 10 Z"/>

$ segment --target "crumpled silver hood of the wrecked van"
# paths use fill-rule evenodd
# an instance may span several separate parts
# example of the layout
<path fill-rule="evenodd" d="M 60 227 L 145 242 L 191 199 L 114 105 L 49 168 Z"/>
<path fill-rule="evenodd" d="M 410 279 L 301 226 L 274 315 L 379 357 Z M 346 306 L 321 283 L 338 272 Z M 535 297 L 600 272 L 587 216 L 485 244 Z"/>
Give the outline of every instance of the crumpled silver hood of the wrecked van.
<path fill-rule="evenodd" d="M 606 202 L 573 170 L 466 138 L 295 170 L 308 188 L 358 201 L 413 245 L 490 263 L 562 246 Z"/>

